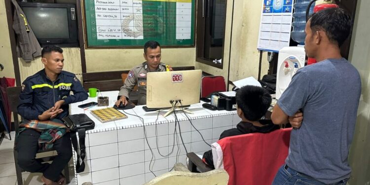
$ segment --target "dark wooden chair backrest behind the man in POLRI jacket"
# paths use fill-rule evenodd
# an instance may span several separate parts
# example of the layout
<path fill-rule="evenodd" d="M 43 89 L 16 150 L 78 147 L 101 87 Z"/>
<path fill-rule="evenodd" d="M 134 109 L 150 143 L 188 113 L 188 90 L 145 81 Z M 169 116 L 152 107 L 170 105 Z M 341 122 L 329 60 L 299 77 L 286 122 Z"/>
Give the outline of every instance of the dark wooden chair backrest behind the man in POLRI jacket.
<path fill-rule="evenodd" d="M 13 112 L 14 118 L 14 127 L 15 130 L 18 130 L 19 120 L 18 120 L 18 111 L 17 107 L 19 104 L 19 94 L 21 93 L 22 87 L 7 87 L 6 94 L 8 96 L 8 102 L 10 110 Z"/>

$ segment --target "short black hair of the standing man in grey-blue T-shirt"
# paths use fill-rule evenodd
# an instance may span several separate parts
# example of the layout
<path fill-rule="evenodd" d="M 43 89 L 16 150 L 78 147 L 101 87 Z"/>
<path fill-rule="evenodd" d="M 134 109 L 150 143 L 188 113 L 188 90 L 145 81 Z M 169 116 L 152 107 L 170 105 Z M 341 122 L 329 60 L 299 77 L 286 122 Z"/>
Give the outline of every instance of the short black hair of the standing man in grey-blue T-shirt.
<path fill-rule="evenodd" d="M 324 31 L 329 40 L 337 42 L 339 47 L 351 32 L 351 16 L 341 8 L 325 8 L 314 13 L 310 20 L 312 31 Z"/>

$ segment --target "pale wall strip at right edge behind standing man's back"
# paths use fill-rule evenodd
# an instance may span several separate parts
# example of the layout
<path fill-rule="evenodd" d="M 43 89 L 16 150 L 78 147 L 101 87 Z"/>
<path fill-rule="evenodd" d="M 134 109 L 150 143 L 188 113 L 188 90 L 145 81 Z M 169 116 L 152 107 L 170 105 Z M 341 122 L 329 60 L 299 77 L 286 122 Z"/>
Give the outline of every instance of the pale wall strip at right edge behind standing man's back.
<path fill-rule="evenodd" d="M 358 0 L 349 61 L 361 75 L 362 93 L 349 153 L 350 185 L 370 184 L 370 0 Z"/>

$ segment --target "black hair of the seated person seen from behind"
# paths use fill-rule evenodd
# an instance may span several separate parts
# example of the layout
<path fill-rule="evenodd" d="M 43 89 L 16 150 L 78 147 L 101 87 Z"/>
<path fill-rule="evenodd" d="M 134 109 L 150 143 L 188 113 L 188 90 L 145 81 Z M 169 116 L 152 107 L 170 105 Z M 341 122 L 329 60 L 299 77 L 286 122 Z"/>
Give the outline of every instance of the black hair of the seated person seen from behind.
<path fill-rule="evenodd" d="M 253 85 L 246 85 L 236 91 L 236 104 L 250 121 L 259 120 L 271 104 L 271 95 L 267 90 Z"/>

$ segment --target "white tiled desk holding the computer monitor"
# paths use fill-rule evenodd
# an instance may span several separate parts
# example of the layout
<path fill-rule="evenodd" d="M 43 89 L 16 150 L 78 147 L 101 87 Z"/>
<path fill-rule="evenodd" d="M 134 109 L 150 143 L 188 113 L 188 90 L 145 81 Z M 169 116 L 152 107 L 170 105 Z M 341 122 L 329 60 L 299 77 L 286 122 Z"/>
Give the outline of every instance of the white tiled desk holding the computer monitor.
<path fill-rule="evenodd" d="M 109 107 L 114 105 L 118 91 L 102 92 L 103 96 L 109 97 Z M 84 182 L 92 182 L 94 185 L 142 185 L 154 178 L 149 171 L 151 152 L 144 137 L 144 127 L 140 118 L 127 115 L 128 118 L 117 121 L 102 123 L 91 115 L 90 111 L 106 107 L 93 107 L 86 111 L 78 108 L 78 105 L 97 102 L 97 98 L 71 105 L 71 114 L 86 113 L 95 121 L 95 129 L 86 131 L 86 157 L 85 171 L 76 174 L 78 185 Z M 157 112 L 146 112 L 143 106 L 136 106 L 132 110 L 125 110 L 144 118 L 147 138 L 154 158 L 150 168 L 156 176 L 168 172 L 176 163 L 176 153 L 180 147 L 178 162 L 186 164 L 186 152 L 178 135 L 179 145 L 175 140 L 175 147 L 172 154 L 174 141 L 175 116 L 170 114 L 167 117 L 160 112 L 157 122 Z M 193 125 L 203 135 L 204 140 L 211 144 L 216 142 L 222 131 L 235 127 L 241 120 L 236 111 L 210 111 L 202 108 L 202 103 L 191 105 L 188 109 L 194 112 L 186 114 L 190 117 Z M 180 121 L 181 133 L 188 152 L 203 153 L 210 149 L 199 133 L 190 125 L 185 114 L 177 113 Z M 157 137 L 155 137 L 155 124 L 157 125 Z M 179 133 L 179 129 L 177 128 Z M 176 137 L 176 135 L 175 135 Z M 156 142 L 157 138 L 157 142 Z M 75 165 L 74 153 L 74 165 Z"/>

